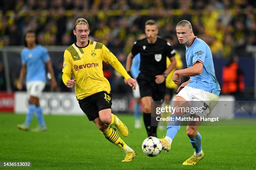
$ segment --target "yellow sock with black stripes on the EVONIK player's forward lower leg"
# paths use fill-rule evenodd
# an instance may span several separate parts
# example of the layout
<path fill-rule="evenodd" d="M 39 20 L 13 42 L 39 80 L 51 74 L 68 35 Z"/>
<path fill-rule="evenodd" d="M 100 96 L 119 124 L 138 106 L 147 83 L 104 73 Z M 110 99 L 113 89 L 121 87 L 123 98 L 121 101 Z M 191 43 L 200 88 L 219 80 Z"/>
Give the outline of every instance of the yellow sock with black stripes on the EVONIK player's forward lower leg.
<path fill-rule="evenodd" d="M 125 152 L 131 152 L 132 149 L 126 145 L 126 143 L 119 137 L 118 133 L 112 128 L 108 128 L 105 132 L 103 132 L 105 138 L 107 138 L 111 143 L 118 145 Z"/>

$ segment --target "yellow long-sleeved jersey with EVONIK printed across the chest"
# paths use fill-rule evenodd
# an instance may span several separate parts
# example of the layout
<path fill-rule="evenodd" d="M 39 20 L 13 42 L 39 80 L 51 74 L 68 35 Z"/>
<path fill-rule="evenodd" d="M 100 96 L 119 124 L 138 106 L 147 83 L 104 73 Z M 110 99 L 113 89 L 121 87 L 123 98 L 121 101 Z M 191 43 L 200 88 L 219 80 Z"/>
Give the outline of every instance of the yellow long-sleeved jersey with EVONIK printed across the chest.
<path fill-rule="evenodd" d="M 112 65 L 126 80 L 130 78 L 123 65 L 102 43 L 88 40 L 85 47 L 73 44 L 65 50 L 62 80 L 67 85 L 67 80 L 73 75 L 77 99 L 101 91 L 110 92 L 110 84 L 103 75 L 102 61 Z"/>

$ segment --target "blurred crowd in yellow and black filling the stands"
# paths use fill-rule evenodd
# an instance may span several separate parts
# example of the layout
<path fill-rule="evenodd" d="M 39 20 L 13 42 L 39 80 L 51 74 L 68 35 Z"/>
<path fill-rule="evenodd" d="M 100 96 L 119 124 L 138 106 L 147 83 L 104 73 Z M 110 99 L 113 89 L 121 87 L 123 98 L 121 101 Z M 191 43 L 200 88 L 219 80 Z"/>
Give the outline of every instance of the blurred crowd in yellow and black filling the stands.
<path fill-rule="evenodd" d="M 24 33 L 30 29 L 36 30 L 41 45 L 71 45 L 74 20 L 83 17 L 90 24 L 89 39 L 105 44 L 125 65 L 146 20 L 154 19 L 159 36 L 174 37 L 173 46 L 184 57 L 175 26 L 189 20 L 213 57 L 229 58 L 233 53 L 248 57 L 253 55 L 248 47 L 256 45 L 255 14 L 256 1 L 251 0 L 9 0 L 0 7 L 0 47 L 23 45 Z M 54 64 L 61 67 L 59 61 Z M 111 82 L 115 72 L 105 67 Z M 115 77 L 115 84 L 123 85 L 119 78 Z"/>

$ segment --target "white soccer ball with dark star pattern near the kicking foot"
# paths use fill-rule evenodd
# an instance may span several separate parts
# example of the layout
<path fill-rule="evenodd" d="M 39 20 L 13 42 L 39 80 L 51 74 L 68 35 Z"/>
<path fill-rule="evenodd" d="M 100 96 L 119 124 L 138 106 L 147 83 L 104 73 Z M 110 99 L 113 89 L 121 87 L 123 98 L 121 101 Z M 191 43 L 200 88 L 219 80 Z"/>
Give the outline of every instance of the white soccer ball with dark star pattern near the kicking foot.
<path fill-rule="evenodd" d="M 145 155 L 154 157 L 161 153 L 162 144 L 158 138 L 151 136 L 143 141 L 141 148 Z"/>

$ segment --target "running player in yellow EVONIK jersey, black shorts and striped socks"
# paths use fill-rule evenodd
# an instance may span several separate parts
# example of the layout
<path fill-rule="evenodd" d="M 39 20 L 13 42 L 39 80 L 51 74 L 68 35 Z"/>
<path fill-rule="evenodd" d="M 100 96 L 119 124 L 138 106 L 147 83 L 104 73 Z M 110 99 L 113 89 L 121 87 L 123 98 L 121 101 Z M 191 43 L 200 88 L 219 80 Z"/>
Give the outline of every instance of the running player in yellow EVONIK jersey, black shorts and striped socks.
<path fill-rule="evenodd" d="M 77 42 L 64 52 L 62 80 L 67 87 L 74 86 L 79 105 L 88 119 L 97 125 L 105 138 L 126 153 L 122 162 L 130 162 L 136 156 L 135 152 L 111 128 L 115 125 L 124 137 L 129 134 L 125 124 L 111 113 L 112 95 L 110 84 L 103 75 L 102 61 L 112 65 L 133 89 L 136 89 L 136 81 L 128 75 L 123 65 L 105 45 L 88 40 L 90 27 L 87 20 L 77 19 L 73 32 Z"/>

